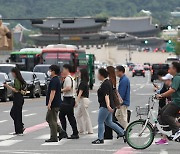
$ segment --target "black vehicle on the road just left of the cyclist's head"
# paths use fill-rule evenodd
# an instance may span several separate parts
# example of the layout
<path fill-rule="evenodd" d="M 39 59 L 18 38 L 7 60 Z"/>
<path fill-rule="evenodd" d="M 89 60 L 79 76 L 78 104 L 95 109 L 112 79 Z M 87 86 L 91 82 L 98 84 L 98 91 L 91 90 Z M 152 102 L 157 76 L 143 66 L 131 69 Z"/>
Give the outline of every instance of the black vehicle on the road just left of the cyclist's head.
<path fill-rule="evenodd" d="M 168 73 L 169 64 L 153 64 L 151 68 L 151 82 L 158 79 L 158 72 L 163 70 Z"/>

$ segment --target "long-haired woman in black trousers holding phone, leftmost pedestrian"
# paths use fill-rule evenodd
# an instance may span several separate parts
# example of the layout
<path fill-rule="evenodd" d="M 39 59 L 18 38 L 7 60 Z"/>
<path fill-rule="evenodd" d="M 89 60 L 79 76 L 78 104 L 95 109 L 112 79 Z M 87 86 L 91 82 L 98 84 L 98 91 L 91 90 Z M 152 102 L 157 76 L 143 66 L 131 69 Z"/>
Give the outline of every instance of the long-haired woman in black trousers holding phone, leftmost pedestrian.
<path fill-rule="evenodd" d="M 22 108 L 24 104 L 24 98 L 22 95 L 22 87 L 26 84 L 18 68 L 11 70 L 14 78 L 14 86 L 11 87 L 4 83 L 4 86 L 11 89 L 14 93 L 13 106 L 11 108 L 10 115 L 14 120 L 15 133 L 14 135 L 23 135 L 24 124 L 22 123 Z"/>

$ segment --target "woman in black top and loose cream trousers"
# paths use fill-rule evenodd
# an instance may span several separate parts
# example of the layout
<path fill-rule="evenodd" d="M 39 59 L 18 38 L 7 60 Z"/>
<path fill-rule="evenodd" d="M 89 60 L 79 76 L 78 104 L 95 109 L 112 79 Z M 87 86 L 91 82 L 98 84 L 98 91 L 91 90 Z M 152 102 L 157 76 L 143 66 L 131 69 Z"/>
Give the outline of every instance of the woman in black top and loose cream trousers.
<path fill-rule="evenodd" d="M 77 90 L 77 98 L 76 98 L 76 119 L 79 127 L 79 133 L 85 134 L 86 131 L 88 134 L 93 134 L 93 128 L 91 119 L 88 112 L 89 105 L 89 74 L 87 69 L 80 70 L 80 78 L 81 82 L 78 86 Z"/>

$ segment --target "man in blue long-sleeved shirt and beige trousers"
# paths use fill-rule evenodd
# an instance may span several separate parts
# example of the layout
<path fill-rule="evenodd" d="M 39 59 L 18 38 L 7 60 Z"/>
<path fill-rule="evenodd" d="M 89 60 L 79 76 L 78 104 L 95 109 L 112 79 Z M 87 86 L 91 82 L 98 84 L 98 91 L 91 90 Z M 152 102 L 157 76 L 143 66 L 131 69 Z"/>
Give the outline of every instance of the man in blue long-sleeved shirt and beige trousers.
<path fill-rule="evenodd" d="M 125 75 L 125 68 L 123 66 L 116 67 L 116 75 L 120 77 L 118 92 L 123 99 L 123 104 L 116 110 L 115 117 L 125 130 L 128 125 L 127 109 L 130 105 L 130 81 Z"/>

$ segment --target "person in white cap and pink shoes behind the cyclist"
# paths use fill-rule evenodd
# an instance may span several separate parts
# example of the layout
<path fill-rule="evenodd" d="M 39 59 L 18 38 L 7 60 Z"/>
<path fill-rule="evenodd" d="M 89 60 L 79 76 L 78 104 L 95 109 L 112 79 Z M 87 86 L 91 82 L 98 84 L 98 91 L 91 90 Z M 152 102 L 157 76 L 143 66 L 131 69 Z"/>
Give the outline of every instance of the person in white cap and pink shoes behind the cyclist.
<path fill-rule="evenodd" d="M 165 76 L 162 77 L 162 81 L 164 81 L 164 86 L 163 88 L 160 90 L 160 94 L 168 91 L 171 87 L 171 84 L 172 84 L 172 79 L 173 79 L 173 76 L 171 74 L 166 74 Z M 161 106 L 159 107 L 159 114 L 161 113 L 161 110 L 164 106 L 166 106 L 169 102 L 171 102 L 171 97 L 164 97 L 163 99 L 161 99 Z M 164 129 L 165 131 L 168 131 L 169 129 Z M 168 144 L 168 138 L 166 135 L 163 135 L 162 134 L 162 138 L 158 141 L 155 142 L 156 145 L 162 145 L 162 144 Z"/>

